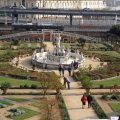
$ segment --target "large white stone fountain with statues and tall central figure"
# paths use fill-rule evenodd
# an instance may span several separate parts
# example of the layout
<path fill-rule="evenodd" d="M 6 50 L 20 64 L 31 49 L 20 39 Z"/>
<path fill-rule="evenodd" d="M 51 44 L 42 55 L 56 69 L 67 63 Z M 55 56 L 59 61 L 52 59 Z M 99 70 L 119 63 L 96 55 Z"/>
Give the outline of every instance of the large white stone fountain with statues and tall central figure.
<path fill-rule="evenodd" d="M 67 69 L 72 62 L 78 62 L 78 67 L 84 66 L 84 56 L 77 50 L 75 53 L 71 52 L 70 49 L 65 49 L 60 44 L 61 37 L 60 34 L 56 37 L 56 45 L 52 51 L 47 52 L 44 49 L 40 51 L 35 50 L 32 55 L 32 63 L 35 63 L 37 67 L 47 69 L 58 69 L 58 66 L 64 65 Z"/>

